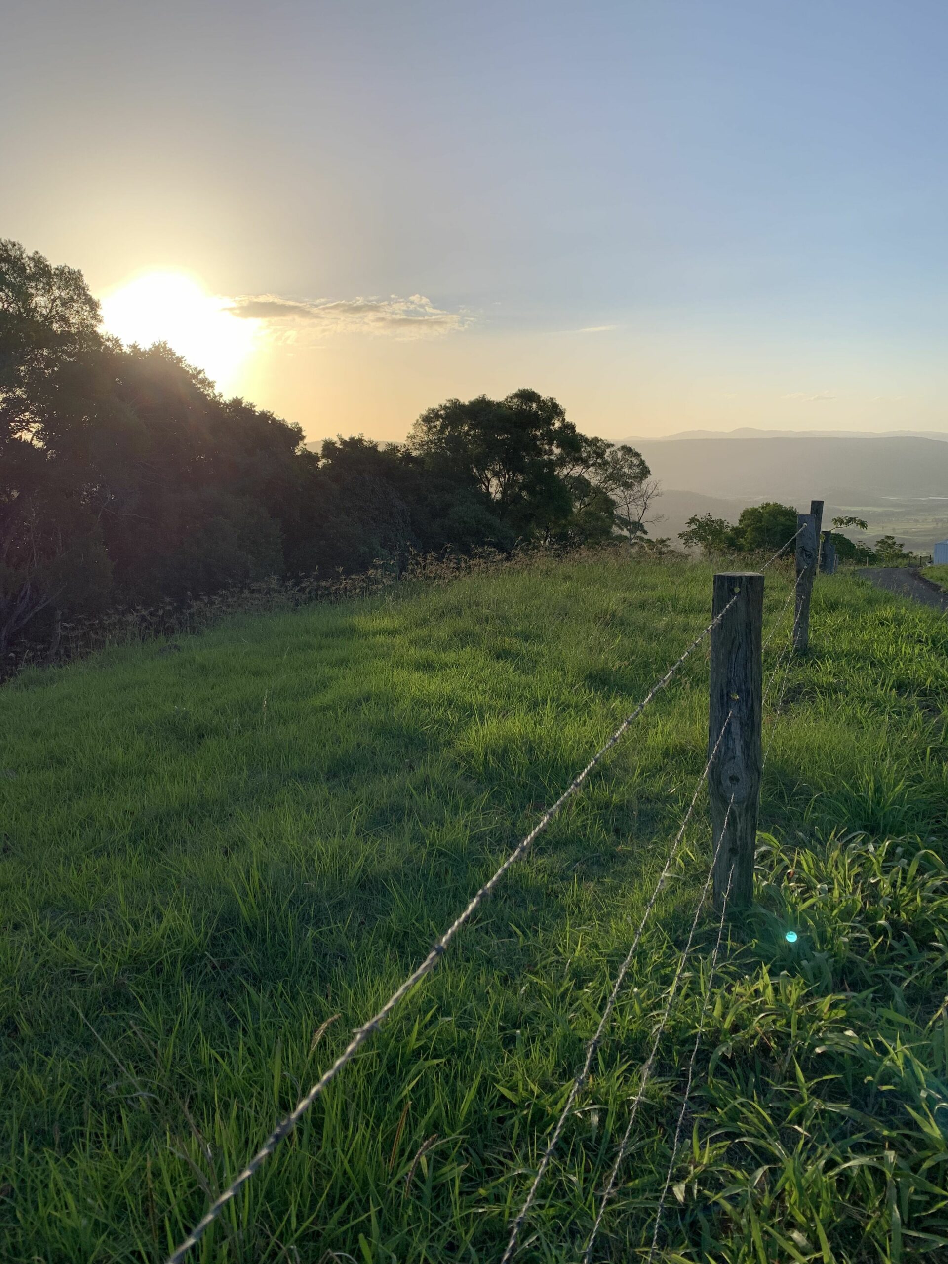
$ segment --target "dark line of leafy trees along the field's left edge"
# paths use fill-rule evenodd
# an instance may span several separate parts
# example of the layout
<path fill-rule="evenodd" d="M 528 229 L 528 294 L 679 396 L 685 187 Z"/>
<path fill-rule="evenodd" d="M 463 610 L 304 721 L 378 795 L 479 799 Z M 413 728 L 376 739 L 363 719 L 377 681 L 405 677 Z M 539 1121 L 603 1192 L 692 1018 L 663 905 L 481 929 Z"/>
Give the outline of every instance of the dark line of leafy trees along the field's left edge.
<path fill-rule="evenodd" d="M 657 490 L 640 453 L 530 389 L 310 451 L 167 345 L 105 335 L 78 269 L 0 241 L 0 659 L 61 617 L 269 575 L 636 540 Z"/>

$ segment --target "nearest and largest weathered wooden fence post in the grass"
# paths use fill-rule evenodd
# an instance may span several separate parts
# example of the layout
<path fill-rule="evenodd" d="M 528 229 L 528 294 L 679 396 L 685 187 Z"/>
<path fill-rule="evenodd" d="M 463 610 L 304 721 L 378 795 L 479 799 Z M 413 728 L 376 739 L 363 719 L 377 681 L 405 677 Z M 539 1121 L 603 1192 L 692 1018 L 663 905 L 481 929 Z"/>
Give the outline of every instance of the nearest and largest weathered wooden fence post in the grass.
<path fill-rule="evenodd" d="M 715 856 L 714 904 L 718 909 L 724 902 L 726 892 L 729 892 L 728 904 L 734 908 L 747 908 L 753 899 L 753 851 L 762 763 L 763 575 L 747 571 L 715 575 L 713 616 L 720 614 L 732 598 L 737 600 L 712 629 L 710 640 L 708 796 Z M 720 744 L 712 758 L 719 737 Z"/>

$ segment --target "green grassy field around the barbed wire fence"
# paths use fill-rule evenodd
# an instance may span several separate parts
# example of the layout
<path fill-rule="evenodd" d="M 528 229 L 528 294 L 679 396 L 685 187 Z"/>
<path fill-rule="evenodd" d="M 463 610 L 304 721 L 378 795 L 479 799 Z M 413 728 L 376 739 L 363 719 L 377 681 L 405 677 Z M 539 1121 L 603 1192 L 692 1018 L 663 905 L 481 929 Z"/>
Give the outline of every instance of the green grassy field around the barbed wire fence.
<path fill-rule="evenodd" d="M 0 1258 L 161 1260 L 709 603 L 703 565 L 536 564 L 0 691 Z M 709 997 L 700 923 L 599 1260 L 652 1239 L 705 1000 L 659 1258 L 948 1259 L 948 627 L 820 576 L 810 645 L 758 909 Z M 499 1259 L 705 743 L 703 650 L 195 1260 Z M 581 1255 L 708 862 L 702 800 L 525 1261 Z"/>

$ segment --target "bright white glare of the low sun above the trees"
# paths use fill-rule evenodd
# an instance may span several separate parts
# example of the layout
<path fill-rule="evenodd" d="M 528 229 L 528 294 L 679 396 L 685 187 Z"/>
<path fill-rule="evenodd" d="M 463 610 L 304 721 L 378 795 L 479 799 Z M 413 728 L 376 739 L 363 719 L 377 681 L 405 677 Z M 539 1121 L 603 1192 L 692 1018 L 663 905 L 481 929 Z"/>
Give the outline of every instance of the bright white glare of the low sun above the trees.
<path fill-rule="evenodd" d="M 204 369 L 219 389 L 234 391 L 257 341 L 259 321 L 230 311 L 183 272 L 147 272 L 105 295 L 102 325 L 123 343 L 164 341 Z"/>

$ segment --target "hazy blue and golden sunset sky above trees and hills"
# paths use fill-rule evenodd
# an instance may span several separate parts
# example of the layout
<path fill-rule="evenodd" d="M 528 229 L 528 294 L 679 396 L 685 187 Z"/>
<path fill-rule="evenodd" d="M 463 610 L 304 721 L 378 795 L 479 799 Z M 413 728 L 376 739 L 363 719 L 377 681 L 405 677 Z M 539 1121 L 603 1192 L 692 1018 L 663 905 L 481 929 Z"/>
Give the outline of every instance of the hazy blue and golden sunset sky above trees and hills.
<path fill-rule="evenodd" d="M 943 0 L 5 0 L 0 236 L 308 439 L 948 430 Z"/>

